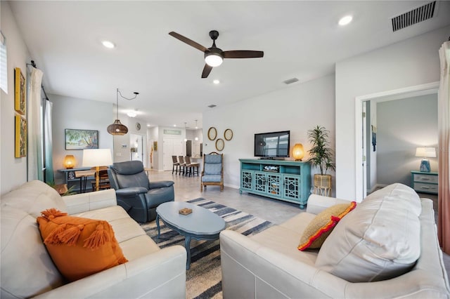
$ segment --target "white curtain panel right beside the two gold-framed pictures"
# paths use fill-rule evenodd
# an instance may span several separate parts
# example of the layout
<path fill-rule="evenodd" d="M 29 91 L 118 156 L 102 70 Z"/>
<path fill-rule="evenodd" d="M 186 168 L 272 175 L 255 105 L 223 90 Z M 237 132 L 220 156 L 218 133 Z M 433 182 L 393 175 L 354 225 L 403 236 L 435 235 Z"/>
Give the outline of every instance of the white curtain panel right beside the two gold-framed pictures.
<path fill-rule="evenodd" d="M 42 114 L 41 114 L 41 81 L 42 71 L 32 68 L 30 76 L 30 94 L 28 95 L 27 126 L 27 180 L 44 180 L 42 172 Z"/>

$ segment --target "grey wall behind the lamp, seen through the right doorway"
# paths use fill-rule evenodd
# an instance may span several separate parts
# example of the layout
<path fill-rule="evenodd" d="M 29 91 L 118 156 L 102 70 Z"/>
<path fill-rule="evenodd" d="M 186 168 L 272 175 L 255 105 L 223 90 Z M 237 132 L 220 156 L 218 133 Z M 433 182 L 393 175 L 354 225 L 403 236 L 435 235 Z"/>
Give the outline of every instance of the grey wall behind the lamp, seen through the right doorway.
<path fill-rule="evenodd" d="M 437 147 L 437 95 L 379 102 L 377 112 L 377 182 L 411 186 L 411 171 L 419 170 L 421 160 L 416 147 Z M 429 160 L 437 171 L 437 158 Z"/>

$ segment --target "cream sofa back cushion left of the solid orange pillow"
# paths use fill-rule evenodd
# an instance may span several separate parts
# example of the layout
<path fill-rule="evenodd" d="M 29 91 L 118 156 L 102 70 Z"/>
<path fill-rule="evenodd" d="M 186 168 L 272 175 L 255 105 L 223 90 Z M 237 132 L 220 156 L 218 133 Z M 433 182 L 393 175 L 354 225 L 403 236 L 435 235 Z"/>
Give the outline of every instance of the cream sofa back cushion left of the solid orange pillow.
<path fill-rule="evenodd" d="M 64 278 L 42 243 L 36 218 L 2 206 L 0 221 L 0 297 L 30 298 L 62 286 Z"/>

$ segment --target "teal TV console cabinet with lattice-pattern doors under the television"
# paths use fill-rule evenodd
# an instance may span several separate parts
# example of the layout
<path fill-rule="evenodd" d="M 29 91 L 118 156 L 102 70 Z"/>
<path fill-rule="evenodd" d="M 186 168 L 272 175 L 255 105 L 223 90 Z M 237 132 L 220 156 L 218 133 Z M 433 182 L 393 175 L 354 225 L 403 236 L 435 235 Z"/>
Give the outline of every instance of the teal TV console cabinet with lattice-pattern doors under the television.
<path fill-rule="evenodd" d="M 308 162 L 239 159 L 239 192 L 307 205 L 311 190 L 311 166 Z"/>

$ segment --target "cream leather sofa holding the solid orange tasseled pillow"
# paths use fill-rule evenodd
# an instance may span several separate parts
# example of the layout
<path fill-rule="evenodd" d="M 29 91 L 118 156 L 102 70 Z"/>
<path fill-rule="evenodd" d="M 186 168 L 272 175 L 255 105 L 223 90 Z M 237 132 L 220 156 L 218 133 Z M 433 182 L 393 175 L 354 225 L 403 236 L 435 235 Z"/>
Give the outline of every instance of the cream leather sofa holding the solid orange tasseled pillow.
<path fill-rule="evenodd" d="M 60 197 L 39 180 L 1 197 L 1 298 L 186 298 L 186 250 L 160 249 L 117 206 L 115 191 Z M 48 208 L 107 220 L 129 262 L 67 283 L 43 244 L 37 217 Z"/>

